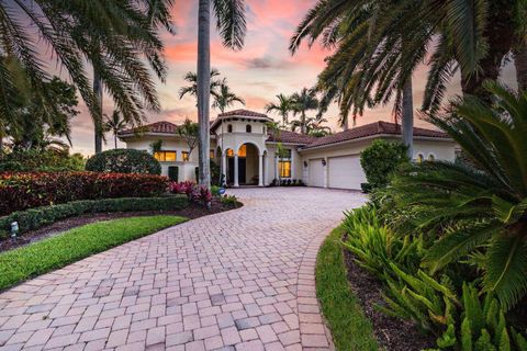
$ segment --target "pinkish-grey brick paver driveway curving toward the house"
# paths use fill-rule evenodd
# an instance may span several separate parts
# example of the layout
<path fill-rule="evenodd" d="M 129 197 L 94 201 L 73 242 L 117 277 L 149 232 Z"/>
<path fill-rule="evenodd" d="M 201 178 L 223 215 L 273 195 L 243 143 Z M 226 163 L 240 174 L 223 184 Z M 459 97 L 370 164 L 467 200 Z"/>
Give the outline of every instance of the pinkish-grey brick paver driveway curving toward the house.
<path fill-rule="evenodd" d="M 0 350 L 328 349 L 316 251 L 363 196 L 309 188 L 232 193 L 244 207 L 1 294 Z"/>

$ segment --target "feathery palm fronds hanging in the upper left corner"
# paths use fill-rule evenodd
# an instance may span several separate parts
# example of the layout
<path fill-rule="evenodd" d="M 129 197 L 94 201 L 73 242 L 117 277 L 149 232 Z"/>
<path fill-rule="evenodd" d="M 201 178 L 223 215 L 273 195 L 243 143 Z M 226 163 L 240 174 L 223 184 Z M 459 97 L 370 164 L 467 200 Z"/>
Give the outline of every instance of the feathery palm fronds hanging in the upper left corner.
<path fill-rule="evenodd" d="M 96 126 L 102 129 L 99 102 L 88 79 L 91 68 L 98 72 L 105 91 L 124 115 L 142 121 L 144 109 L 159 110 L 150 69 L 161 80 L 166 77 L 164 43 L 156 31 L 172 31 L 170 11 L 173 0 L 35 0 L 0 4 L 0 37 L 3 54 L 19 61 L 31 81 L 43 109 L 56 115 L 55 95 L 46 89 L 51 81 L 42 56 L 54 57 L 64 68 L 86 102 Z M 46 45 L 38 45 L 44 42 Z M 53 66 L 53 65 L 52 65 Z M 2 94 L 0 126 L 14 120 L 16 82 L 0 61 Z M 134 93 L 131 93 L 134 92 Z M 0 134 L 4 134 L 0 131 Z"/>

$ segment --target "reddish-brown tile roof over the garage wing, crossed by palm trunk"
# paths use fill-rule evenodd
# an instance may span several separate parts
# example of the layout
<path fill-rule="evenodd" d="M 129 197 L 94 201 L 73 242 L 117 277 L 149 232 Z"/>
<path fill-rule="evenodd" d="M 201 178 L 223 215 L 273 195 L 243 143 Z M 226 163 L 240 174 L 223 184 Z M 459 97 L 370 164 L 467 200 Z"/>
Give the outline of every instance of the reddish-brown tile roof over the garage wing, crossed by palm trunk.
<path fill-rule="evenodd" d="M 321 138 L 316 138 L 313 143 L 307 144 L 304 148 L 313 148 L 326 146 L 354 139 L 359 139 L 373 135 L 401 135 L 401 125 L 390 122 L 374 122 L 360 127 L 335 133 Z M 449 138 L 448 134 L 439 131 L 425 129 L 414 127 L 414 136 L 430 138 Z"/>

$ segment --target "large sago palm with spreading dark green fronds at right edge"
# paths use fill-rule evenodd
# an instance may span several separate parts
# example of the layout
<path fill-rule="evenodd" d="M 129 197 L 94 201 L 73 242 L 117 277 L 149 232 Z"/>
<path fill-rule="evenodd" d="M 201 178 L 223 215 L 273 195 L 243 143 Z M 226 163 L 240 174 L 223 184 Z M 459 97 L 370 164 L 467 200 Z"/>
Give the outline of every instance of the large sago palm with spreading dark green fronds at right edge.
<path fill-rule="evenodd" d="M 439 233 L 424 262 L 433 272 L 483 252 L 483 287 L 509 308 L 527 293 L 527 94 L 484 87 L 492 106 L 467 97 L 446 118 L 429 116 L 473 166 L 413 165 L 391 191 L 418 227 Z"/>

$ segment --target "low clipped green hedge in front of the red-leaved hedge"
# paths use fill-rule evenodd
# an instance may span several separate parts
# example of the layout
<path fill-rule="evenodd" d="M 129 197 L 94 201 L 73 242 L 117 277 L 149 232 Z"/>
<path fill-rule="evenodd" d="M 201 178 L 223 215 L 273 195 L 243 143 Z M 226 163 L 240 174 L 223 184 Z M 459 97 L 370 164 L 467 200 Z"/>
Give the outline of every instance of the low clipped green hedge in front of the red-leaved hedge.
<path fill-rule="evenodd" d="M 7 239 L 11 235 L 11 223 L 13 222 L 19 223 L 19 235 L 23 235 L 57 220 L 86 213 L 173 211 L 184 208 L 188 204 L 187 196 L 170 195 L 162 197 L 83 200 L 19 211 L 9 216 L 0 217 L 0 240 Z"/>

